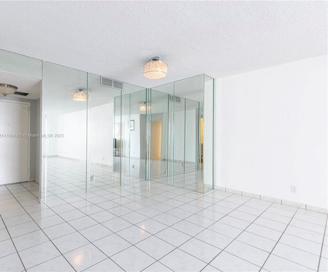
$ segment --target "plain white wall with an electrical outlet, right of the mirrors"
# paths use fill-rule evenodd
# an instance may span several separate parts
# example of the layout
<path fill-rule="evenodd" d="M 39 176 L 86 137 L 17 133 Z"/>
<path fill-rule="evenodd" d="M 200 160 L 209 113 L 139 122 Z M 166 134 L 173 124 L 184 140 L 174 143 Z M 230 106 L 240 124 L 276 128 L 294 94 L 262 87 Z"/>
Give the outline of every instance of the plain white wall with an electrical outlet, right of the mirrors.
<path fill-rule="evenodd" d="M 327 56 L 218 78 L 215 96 L 216 186 L 327 208 Z"/>

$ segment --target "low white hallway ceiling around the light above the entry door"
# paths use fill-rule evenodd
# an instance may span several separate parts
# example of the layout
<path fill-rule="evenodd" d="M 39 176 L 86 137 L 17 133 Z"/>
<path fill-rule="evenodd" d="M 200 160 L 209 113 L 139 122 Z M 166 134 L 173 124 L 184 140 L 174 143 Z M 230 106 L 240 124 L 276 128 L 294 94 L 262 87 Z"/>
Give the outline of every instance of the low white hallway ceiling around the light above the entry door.
<path fill-rule="evenodd" d="M 32 100 L 40 98 L 40 79 L 0 71 L 0 83 L 14 85 L 17 87 L 17 92 L 28 94 L 27 96 L 10 95 L 10 97 Z"/>

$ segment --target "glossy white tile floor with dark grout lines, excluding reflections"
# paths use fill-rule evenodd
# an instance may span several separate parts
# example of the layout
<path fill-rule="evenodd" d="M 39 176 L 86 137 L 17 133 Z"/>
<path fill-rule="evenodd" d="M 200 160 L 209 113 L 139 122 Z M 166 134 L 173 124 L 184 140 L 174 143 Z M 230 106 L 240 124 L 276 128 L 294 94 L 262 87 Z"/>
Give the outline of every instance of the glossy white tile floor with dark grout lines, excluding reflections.
<path fill-rule="evenodd" d="M 0 271 L 327 271 L 327 215 L 141 180 L 39 204 L 0 187 Z"/>

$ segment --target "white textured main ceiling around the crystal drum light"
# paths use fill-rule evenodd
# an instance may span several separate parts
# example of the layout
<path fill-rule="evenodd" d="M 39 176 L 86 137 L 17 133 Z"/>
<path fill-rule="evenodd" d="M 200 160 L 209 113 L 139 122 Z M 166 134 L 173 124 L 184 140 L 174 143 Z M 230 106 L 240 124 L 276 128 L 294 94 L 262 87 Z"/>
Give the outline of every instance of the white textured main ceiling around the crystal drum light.
<path fill-rule="evenodd" d="M 327 54 L 326 1 L 1 1 L 0 48 L 151 87 Z M 159 56 L 162 80 L 142 77 Z"/>

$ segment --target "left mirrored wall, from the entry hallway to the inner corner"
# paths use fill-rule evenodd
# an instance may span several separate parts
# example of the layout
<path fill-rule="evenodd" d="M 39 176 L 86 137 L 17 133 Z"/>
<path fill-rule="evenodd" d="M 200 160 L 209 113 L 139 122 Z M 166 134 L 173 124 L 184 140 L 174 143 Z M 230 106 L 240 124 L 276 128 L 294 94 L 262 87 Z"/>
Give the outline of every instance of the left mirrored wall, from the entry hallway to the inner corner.
<path fill-rule="evenodd" d="M 42 201 L 139 180 L 146 151 L 140 139 L 136 146 L 134 133 L 142 120 L 128 98 L 146 90 L 50 62 L 44 62 L 43 79 Z"/>

